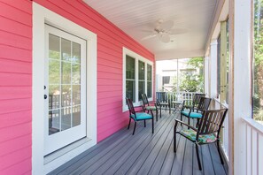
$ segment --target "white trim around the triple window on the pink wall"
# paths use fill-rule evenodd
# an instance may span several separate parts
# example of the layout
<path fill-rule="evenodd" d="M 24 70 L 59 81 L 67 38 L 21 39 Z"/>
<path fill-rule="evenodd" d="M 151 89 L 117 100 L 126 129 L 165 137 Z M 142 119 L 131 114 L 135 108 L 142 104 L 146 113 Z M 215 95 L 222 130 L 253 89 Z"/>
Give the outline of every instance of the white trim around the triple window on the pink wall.
<path fill-rule="evenodd" d="M 151 98 L 149 100 L 151 101 L 153 98 L 153 62 L 149 59 L 146 59 L 145 57 L 140 56 L 139 54 L 135 53 L 134 51 L 127 49 L 123 47 L 122 49 L 122 70 L 123 70 L 123 83 L 122 83 L 122 111 L 125 112 L 128 110 L 128 105 L 126 104 L 125 97 L 126 97 L 126 56 L 134 57 L 135 58 L 135 106 L 141 105 L 141 102 L 138 100 L 138 61 L 143 61 L 145 63 L 145 93 L 147 94 L 147 65 L 151 65 Z"/>

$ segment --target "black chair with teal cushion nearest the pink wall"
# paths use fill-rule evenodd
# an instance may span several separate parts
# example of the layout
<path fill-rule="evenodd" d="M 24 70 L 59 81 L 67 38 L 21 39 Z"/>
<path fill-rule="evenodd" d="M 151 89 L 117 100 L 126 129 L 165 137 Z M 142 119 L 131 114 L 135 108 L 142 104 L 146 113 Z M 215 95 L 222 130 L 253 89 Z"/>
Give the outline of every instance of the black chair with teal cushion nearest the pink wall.
<path fill-rule="evenodd" d="M 133 119 L 135 121 L 135 127 L 134 127 L 134 132 L 133 135 L 135 134 L 135 128 L 136 128 L 136 124 L 137 121 L 144 121 L 144 127 L 146 127 L 146 120 L 147 119 L 151 119 L 152 122 L 152 133 L 154 133 L 154 121 L 153 121 L 153 116 L 151 116 L 148 113 L 145 113 L 143 110 L 143 106 L 138 106 L 140 108 L 142 108 L 142 110 L 136 110 L 135 111 L 135 107 L 133 104 L 133 101 L 131 99 L 126 98 L 126 102 L 128 104 L 128 110 L 129 110 L 129 123 L 128 123 L 128 129 L 130 126 L 130 122 L 131 119 Z"/>

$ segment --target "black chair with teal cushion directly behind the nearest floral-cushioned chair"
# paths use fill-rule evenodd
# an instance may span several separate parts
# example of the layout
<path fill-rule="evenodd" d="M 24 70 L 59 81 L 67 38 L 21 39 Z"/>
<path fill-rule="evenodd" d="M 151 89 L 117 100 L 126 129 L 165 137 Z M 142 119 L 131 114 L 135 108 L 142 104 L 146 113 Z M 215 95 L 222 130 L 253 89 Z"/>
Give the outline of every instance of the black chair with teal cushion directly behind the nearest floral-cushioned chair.
<path fill-rule="evenodd" d="M 209 105 L 211 103 L 211 98 L 201 97 L 197 107 L 192 106 L 190 110 L 186 110 L 184 106 L 185 101 L 182 102 L 182 110 L 181 110 L 181 120 L 182 116 L 188 118 L 188 125 L 190 125 L 190 118 L 197 118 L 197 124 L 199 119 L 202 118 L 202 112 L 204 110 L 208 110 Z M 195 111 L 196 110 L 196 111 Z"/>

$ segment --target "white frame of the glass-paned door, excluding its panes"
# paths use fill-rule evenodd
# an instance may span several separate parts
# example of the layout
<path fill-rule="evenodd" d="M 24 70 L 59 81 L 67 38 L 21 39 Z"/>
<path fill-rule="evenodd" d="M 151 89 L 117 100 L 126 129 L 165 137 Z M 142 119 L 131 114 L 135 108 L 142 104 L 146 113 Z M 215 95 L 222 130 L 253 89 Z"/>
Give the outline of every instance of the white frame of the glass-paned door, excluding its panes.
<path fill-rule="evenodd" d="M 58 28 L 51 27 L 49 25 L 45 25 L 45 95 L 49 95 L 49 34 L 57 35 L 60 38 L 64 38 L 71 42 L 79 43 L 81 45 L 81 125 L 73 126 L 64 131 L 60 131 L 58 133 L 49 134 L 49 98 L 44 100 L 45 102 L 45 120 L 44 120 L 44 152 L 45 155 L 50 154 L 54 150 L 58 150 L 58 148 L 63 148 L 69 143 L 73 143 L 74 141 L 78 141 L 81 138 L 86 137 L 86 53 L 87 46 L 86 40 L 83 40 L 73 34 L 68 34 Z M 61 50 L 60 50 L 61 52 Z M 61 56 L 60 56 L 61 57 Z M 61 61 L 62 62 L 62 61 Z M 59 68 L 59 72 L 61 72 L 61 67 Z M 72 83 L 72 82 L 71 82 Z M 60 82 L 61 84 L 61 82 Z M 61 94 L 61 93 L 60 93 Z M 59 109 L 61 106 L 59 107 Z M 61 115 L 61 113 L 60 113 Z M 61 122 L 60 122 L 61 123 Z"/>

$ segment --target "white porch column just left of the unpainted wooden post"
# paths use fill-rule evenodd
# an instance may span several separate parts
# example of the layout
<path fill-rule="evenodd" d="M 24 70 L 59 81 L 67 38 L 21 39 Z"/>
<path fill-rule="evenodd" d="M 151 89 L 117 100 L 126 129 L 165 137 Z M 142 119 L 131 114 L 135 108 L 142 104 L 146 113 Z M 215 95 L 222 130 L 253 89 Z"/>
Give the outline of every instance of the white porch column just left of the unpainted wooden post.
<path fill-rule="evenodd" d="M 217 41 L 213 40 L 210 44 L 210 58 L 209 58 L 210 77 L 208 78 L 208 94 L 211 98 L 217 95 Z"/>

